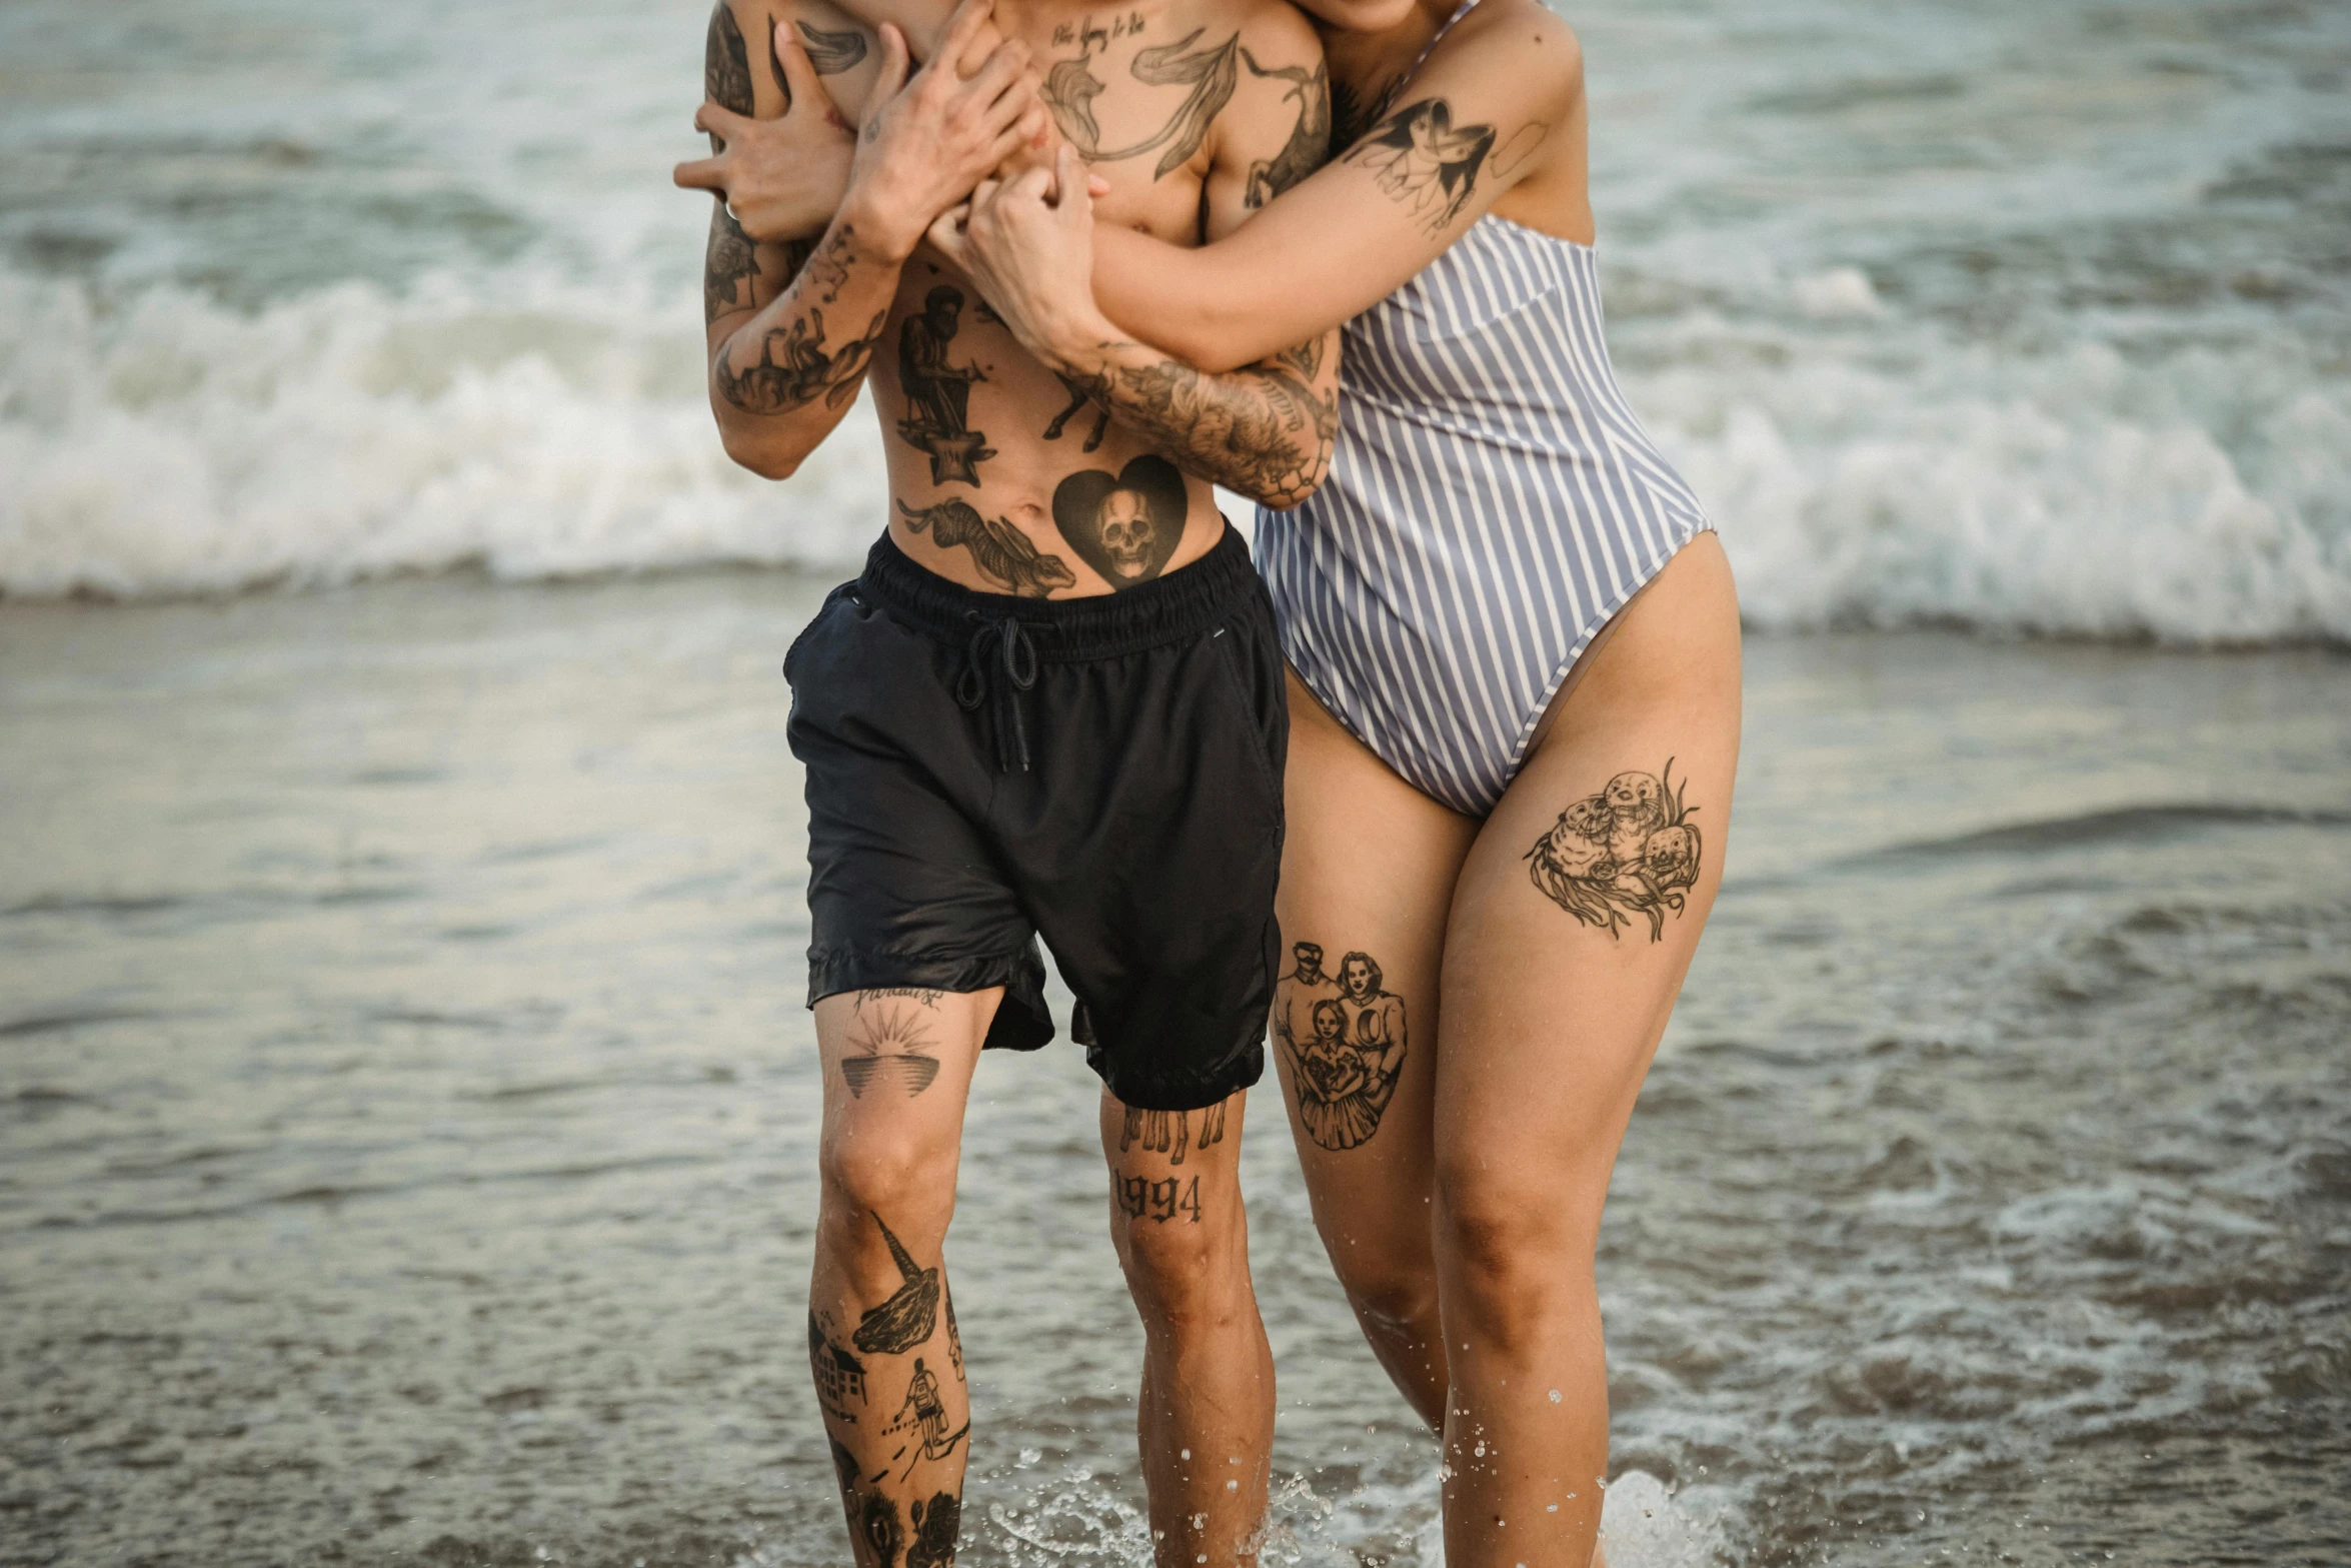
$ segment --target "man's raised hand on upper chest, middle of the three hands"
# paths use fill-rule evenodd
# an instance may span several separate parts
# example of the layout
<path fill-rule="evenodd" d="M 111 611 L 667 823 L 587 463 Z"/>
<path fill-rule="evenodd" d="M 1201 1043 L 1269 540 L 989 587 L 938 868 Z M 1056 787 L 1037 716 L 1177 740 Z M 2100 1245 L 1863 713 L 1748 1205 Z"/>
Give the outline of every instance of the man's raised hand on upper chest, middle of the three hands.
<path fill-rule="evenodd" d="M 924 230 L 1016 148 L 1041 143 L 1051 115 L 1030 87 L 1030 47 L 1018 38 L 987 49 L 976 68 L 980 28 L 994 0 L 964 0 L 938 54 L 907 82 L 905 35 L 882 26 L 882 80 L 858 132 L 839 221 L 860 252 L 905 261 Z M 903 89 L 900 89 L 903 85 Z"/>

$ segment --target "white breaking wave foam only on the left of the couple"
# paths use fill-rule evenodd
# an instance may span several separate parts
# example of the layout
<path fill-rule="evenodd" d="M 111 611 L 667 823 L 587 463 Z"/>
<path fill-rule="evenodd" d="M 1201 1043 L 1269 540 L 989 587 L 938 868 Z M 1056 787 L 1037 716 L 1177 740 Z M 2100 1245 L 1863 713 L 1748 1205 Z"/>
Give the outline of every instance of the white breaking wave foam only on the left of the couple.
<path fill-rule="evenodd" d="M 503 287 L 501 287 L 503 284 Z M 856 557 L 870 414 L 792 482 L 734 468 L 689 301 L 520 280 L 343 284 L 259 315 L 101 313 L 0 275 L 0 590 L 223 592 L 480 564 L 505 578 Z"/>

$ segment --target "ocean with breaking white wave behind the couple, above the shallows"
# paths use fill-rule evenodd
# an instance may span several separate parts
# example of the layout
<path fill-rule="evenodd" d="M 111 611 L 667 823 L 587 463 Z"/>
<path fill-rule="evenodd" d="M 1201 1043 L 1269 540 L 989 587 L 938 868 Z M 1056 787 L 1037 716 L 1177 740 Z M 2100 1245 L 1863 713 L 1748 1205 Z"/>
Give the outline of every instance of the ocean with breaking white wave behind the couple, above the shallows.
<path fill-rule="evenodd" d="M 0 9 L 0 592 L 839 569 L 701 400 L 701 2 Z M 1596 0 L 1636 404 L 1761 628 L 2351 637 L 2351 7 Z"/>

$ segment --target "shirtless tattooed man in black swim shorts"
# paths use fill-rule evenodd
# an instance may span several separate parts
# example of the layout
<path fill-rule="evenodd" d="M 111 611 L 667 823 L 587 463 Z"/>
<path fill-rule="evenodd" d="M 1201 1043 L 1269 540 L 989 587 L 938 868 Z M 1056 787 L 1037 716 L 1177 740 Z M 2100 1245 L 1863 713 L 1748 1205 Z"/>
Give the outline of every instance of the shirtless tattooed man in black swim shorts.
<path fill-rule="evenodd" d="M 886 2 L 936 33 L 926 0 Z M 896 26 L 724 0 L 698 118 L 750 139 L 816 94 L 863 127 L 818 240 L 755 242 L 719 207 L 705 296 L 736 461 L 792 473 L 868 378 L 889 461 L 889 534 L 785 661 L 825 1088 L 809 1345 L 868 1568 L 952 1552 L 971 1413 L 940 1246 L 980 1048 L 1053 1032 L 1039 933 L 1105 1084 L 1159 1561 L 1255 1561 L 1265 1509 L 1272 1359 L 1227 1112 L 1262 1072 L 1286 715 L 1211 480 L 1274 505 L 1314 489 L 1335 334 L 1230 376 L 1105 346 L 1089 393 L 1124 386 L 1117 421 L 1058 442 L 1072 383 L 922 244 L 997 160 L 1053 153 L 1041 61 L 1103 221 L 1185 244 L 1244 221 L 1300 127 L 1326 125 L 1314 33 L 1274 0 L 999 0 L 992 19 L 973 0 L 903 92 Z M 719 188 L 715 169 L 679 183 Z"/>

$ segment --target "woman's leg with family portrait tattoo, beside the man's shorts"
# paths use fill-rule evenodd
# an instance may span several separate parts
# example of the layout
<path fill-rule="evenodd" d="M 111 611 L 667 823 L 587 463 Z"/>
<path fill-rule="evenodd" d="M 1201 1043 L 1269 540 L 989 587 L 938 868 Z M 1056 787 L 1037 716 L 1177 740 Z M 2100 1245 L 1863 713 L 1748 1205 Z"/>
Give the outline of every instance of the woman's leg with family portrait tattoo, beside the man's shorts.
<path fill-rule="evenodd" d="M 1436 964 L 1476 823 L 1396 778 L 1295 675 L 1288 684 L 1274 1067 L 1331 1267 L 1387 1375 L 1434 1429 L 1446 1403 L 1429 1251 Z M 1349 954 L 1361 957 L 1349 966 Z M 1392 1006 L 1342 990 L 1342 971 L 1357 994 L 1366 990 L 1364 959 Z M 1317 1004 L 1335 1004 L 1321 1027 L 1342 1025 L 1333 1032 L 1347 1051 L 1317 1046 Z M 1378 1058 L 1359 1044 L 1366 1013 L 1378 1039 L 1399 1037 Z M 1385 1084 L 1382 1067 L 1392 1067 Z"/>

